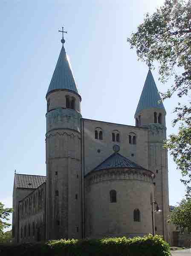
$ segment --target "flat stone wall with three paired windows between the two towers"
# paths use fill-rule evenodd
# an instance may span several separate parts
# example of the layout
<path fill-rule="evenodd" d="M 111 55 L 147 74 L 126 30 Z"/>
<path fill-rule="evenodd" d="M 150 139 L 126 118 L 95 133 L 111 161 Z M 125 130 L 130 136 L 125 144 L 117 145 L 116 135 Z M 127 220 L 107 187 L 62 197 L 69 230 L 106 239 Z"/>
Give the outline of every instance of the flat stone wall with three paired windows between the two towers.
<path fill-rule="evenodd" d="M 120 146 L 119 154 L 148 169 L 148 129 L 83 119 L 84 172 L 87 174 L 113 154 L 113 145 Z M 103 132 L 102 140 L 95 139 L 96 128 Z M 112 133 L 119 132 L 119 141 L 112 140 Z M 129 135 L 136 136 L 136 144 L 129 143 Z"/>

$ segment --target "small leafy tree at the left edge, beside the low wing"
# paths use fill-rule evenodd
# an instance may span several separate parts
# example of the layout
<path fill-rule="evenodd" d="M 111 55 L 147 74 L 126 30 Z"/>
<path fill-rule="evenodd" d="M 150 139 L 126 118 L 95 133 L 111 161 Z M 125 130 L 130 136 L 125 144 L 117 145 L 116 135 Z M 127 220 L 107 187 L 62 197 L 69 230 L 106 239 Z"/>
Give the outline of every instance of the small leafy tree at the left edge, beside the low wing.
<path fill-rule="evenodd" d="M 11 212 L 13 212 L 12 208 L 4 208 L 4 204 L 0 202 L 0 239 L 4 237 L 3 229 L 11 226 L 11 224 L 6 222 L 9 221 Z"/>

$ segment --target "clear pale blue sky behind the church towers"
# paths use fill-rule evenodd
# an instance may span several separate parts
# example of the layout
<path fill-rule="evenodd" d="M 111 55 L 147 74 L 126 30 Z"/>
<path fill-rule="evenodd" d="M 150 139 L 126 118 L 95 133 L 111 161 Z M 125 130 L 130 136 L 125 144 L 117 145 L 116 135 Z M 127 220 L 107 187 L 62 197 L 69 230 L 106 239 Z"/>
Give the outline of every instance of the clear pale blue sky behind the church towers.
<path fill-rule="evenodd" d="M 17 173 L 46 175 L 45 95 L 61 50 L 65 26 L 65 48 L 72 65 L 84 118 L 134 125 L 134 113 L 148 67 L 137 61 L 126 38 L 152 13 L 162 0 L 41 0 L 0 1 L 1 70 L 1 179 L 0 201 L 12 206 L 14 169 Z M 152 71 L 157 87 L 165 91 L 157 69 Z M 167 134 L 172 128 L 174 96 L 164 102 Z M 170 204 L 184 196 L 171 157 Z"/>

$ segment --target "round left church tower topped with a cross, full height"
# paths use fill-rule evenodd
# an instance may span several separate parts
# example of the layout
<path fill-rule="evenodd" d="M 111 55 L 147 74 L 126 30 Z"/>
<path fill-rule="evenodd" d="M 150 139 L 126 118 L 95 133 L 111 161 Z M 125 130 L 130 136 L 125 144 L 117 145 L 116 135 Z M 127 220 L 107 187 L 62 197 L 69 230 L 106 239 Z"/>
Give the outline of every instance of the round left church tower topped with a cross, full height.
<path fill-rule="evenodd" d="M 62 28 L 62 34 L 64 30 Z M 46 239 L 81 238 L 81 96 L 62 48 L 46 93 Z"/>

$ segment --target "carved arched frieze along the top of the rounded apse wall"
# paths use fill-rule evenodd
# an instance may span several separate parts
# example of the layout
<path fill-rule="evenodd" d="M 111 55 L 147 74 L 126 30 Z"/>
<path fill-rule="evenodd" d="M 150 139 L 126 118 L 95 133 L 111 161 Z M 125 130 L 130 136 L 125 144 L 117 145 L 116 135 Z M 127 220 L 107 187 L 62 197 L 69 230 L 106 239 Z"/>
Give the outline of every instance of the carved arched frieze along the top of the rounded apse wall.
<path fill-rule="evenodd" d="M 155 175 L 153 174 L 153 172 L 145 169 L 105 169 L 95 172 L 89 172 L 85 177 L 85 186 L 88 187 L 92 184 L 109 180 L 140 180 L 153 183 L 154 177 Z"/>

